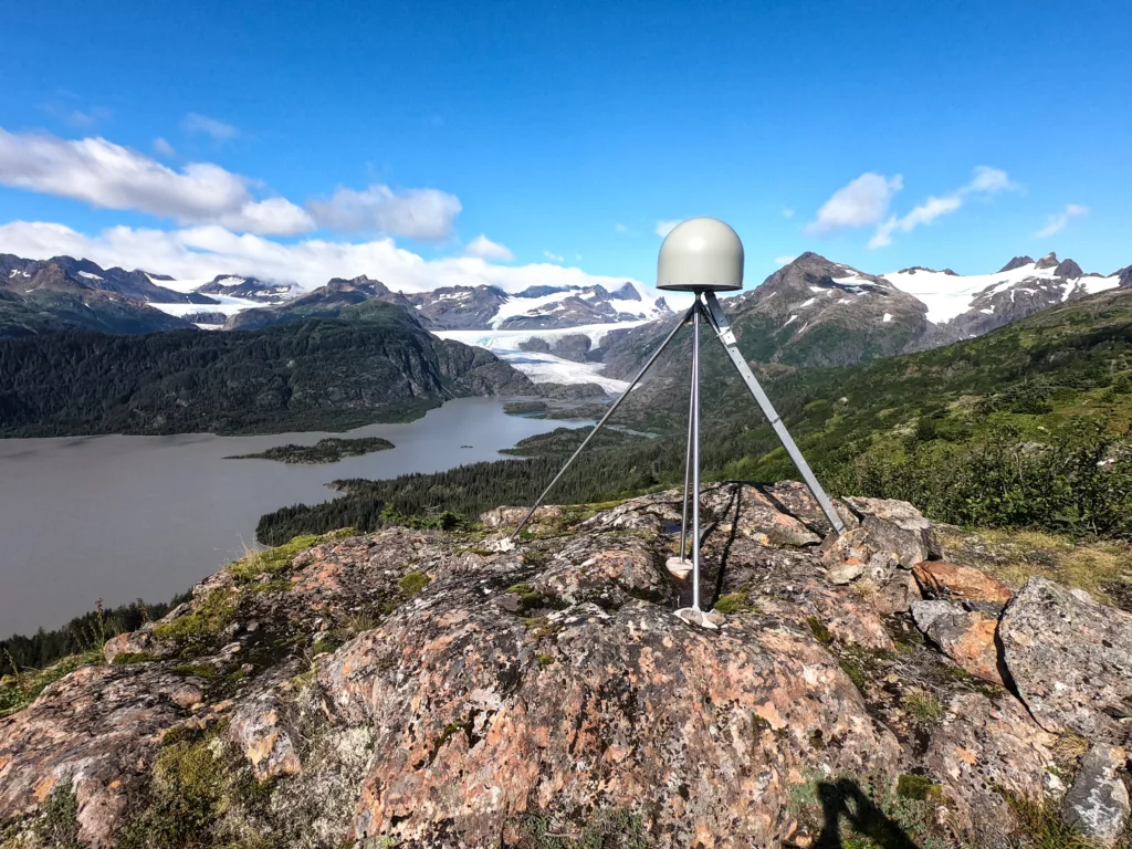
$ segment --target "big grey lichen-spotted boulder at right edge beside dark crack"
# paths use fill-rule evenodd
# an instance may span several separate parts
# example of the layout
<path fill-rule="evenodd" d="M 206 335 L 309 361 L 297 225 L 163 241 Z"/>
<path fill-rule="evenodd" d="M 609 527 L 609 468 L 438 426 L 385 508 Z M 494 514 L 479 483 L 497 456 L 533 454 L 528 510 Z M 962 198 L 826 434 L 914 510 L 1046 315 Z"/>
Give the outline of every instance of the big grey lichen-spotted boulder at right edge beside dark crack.
<path fill-rule="evenodd" d="M 1006 606 L 998 635 L 1014 685 L 1043 728 L 1132 740 L 1132 616 L 1035 577 Z"/>

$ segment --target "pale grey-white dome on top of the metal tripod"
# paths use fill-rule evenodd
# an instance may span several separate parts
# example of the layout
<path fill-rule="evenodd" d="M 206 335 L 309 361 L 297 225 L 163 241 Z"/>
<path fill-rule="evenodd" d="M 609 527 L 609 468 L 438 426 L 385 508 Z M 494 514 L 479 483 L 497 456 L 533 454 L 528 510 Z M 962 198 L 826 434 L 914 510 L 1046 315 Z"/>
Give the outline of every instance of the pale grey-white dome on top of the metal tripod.
<path fill-rule="evenodd" d="M 734 292 L 743 289 L 743 242 L 718 218 L 688 218 L 660 246 L 657 289 Z"/>

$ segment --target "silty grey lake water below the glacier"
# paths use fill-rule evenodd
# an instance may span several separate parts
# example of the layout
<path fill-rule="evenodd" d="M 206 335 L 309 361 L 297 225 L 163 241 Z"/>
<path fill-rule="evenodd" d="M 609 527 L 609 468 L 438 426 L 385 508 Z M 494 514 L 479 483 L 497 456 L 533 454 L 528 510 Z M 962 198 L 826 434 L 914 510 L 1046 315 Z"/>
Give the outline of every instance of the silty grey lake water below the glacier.
<path fill-rule="evenodd" d="M 224 460 L 323 432 L 0 439 L 0 638 L 63 625 L 98 598 L 168 600 L 252 546 L 264 513 L 334 498 L 332 480 L 498 460 L 520 439 L 584 423 L 458 398 L 413 422 L 353 430 L 396 447 L 323 465 Z"/>

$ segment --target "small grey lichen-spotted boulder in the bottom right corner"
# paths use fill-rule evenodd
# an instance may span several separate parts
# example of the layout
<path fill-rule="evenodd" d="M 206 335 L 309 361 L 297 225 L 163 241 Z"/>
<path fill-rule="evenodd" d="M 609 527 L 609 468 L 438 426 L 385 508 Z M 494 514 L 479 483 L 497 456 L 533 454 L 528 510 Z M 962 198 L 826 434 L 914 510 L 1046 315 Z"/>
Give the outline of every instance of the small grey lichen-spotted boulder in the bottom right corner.
<path fill-rule="evenodd" d="M 1124 833 L 1132 809 L 1127 787 L 1117 774 L 1123 766 L 1123 749 L 1094 746 L 1081 760 L 1062 803 L 1065 822 L 1104 846 L 1112 846 Z"/>

